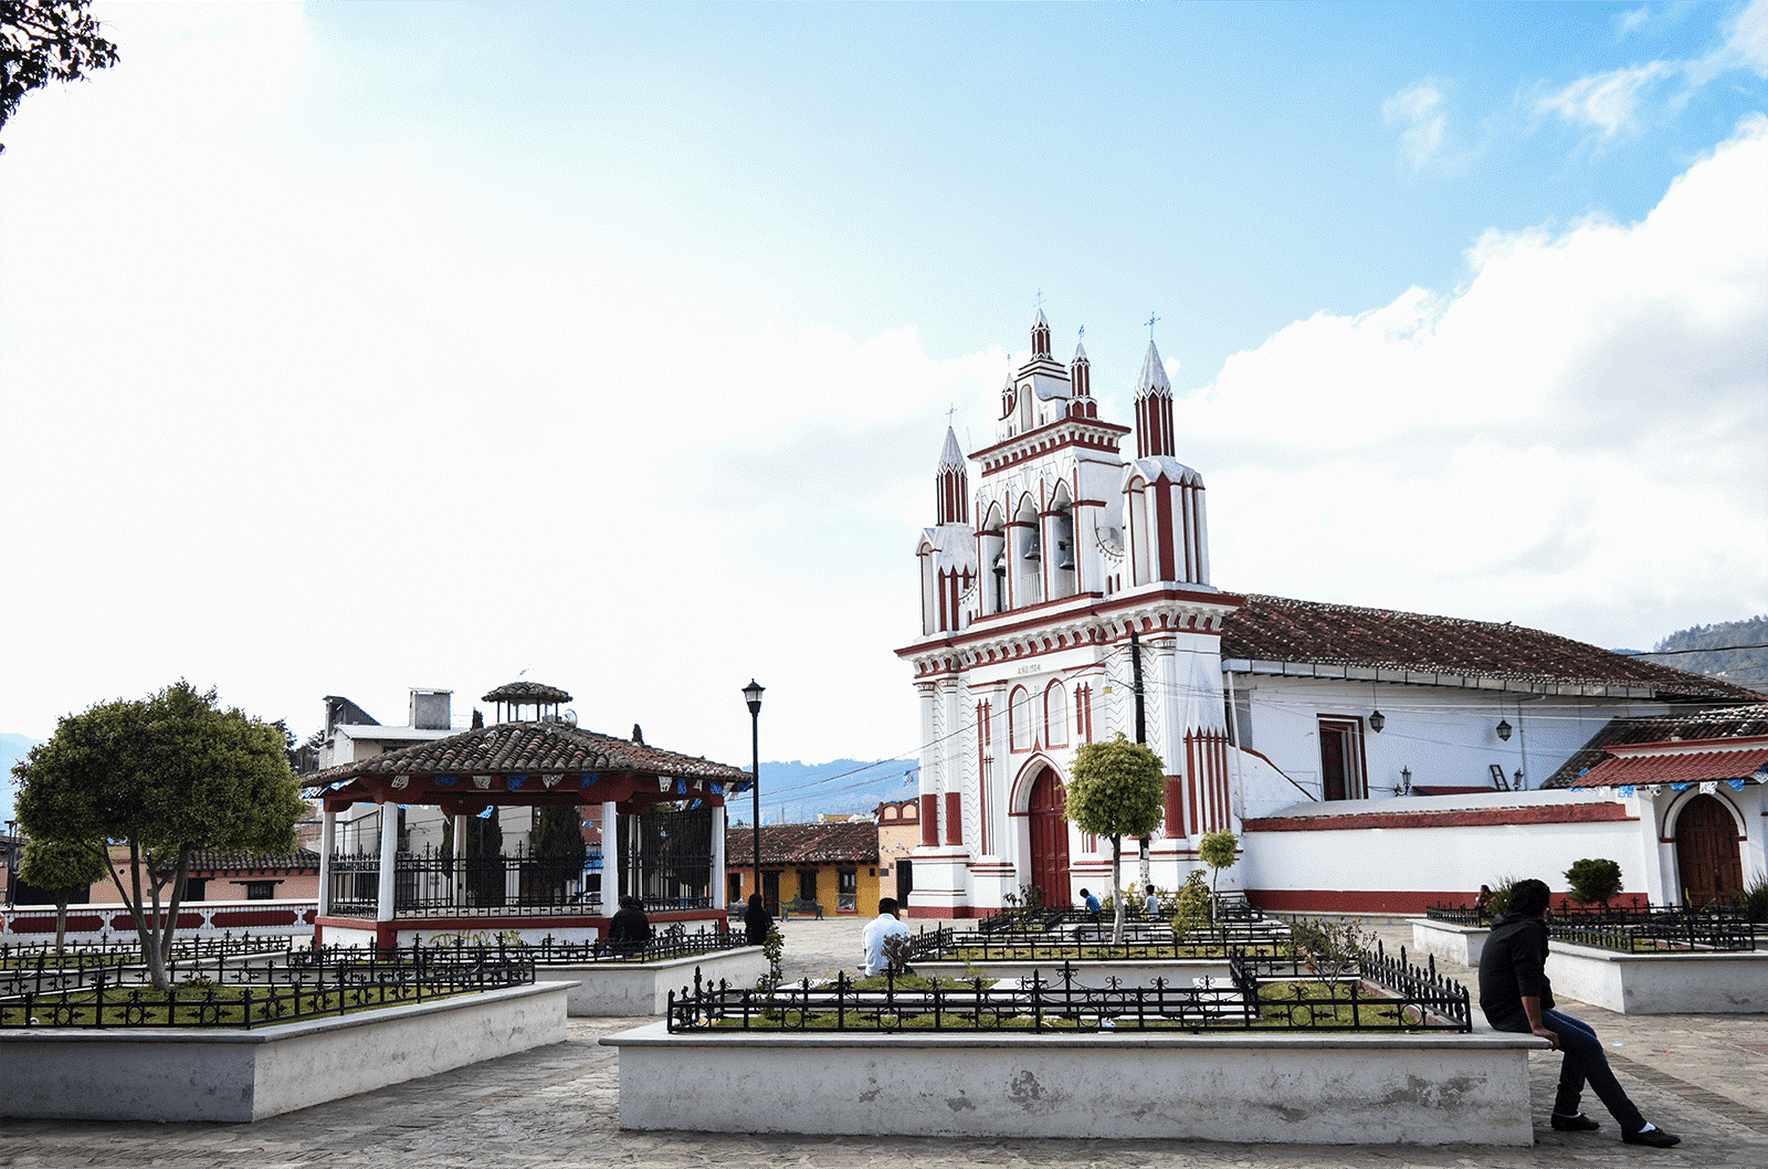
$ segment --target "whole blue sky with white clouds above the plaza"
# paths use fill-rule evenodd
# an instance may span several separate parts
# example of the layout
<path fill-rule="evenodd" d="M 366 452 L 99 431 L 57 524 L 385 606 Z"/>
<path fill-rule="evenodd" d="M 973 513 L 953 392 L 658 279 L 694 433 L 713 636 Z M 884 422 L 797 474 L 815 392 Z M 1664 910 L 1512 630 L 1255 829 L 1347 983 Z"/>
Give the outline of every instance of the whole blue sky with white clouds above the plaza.
<path fill-rule="evenodd" d="M 0 131 L 0 730 L 179 677 L 912 757 L 1038 304 L 1231 591 L 1768 612 L 1768 5 L 94 5 Z M 1153 325 L 1149 325 L 1149 318 Z"/>

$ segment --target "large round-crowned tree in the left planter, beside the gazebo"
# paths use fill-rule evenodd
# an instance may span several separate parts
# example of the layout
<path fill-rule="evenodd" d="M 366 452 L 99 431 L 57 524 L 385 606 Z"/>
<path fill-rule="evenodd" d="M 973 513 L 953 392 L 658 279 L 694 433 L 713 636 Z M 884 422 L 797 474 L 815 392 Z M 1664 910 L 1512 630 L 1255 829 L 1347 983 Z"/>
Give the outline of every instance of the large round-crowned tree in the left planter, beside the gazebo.
<path fill-rule="evenodd" d="M 175 683 L 147 699 L 65 714 L 48 743 L 12 768 L 18 819 L 32 840 L 104 852 L 156 987 L 198 849 L 288 852 L 306 814 L 274 723 L 219 709 L 216 691 Z M 129 847 L 129 877 L 104 842 Z M 141 882 L 147 879 L 147 891 Z M 171 900 L 161 913 L 161 891 Z M 152 900 L 152 914 L 145 902 Z"/>

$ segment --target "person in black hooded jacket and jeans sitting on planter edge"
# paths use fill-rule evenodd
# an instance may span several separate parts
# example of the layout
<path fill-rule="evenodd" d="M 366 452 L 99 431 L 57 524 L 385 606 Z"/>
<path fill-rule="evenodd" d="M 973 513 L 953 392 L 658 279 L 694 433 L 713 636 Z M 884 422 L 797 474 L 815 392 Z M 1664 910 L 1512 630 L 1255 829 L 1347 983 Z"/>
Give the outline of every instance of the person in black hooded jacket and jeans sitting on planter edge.
<path fill-rule="evenodd" d="M 1559 1096 L 1552 1105 L 1552 1127 L 1559 1132 L 1600 1128 L 1584 1116 L 1577 1100 L 1584 1081 L 1595 1089 L 1609 1114 L 1621 1127 L 1621 1141 L 1667 1150 L 1681 1142 L 1673 1132 L 1646 1123 L 1609 1070 L 1609 1058 L 1588 1024 L 1552 1010 L 1552 983 L 1547 982 L 1549 891 L 1543 881 L 1517 881 L 1510 886 L 1510 905 L 1492 921 L 1492 934 L 1480 951 L 1480 1010 L 1497 1031 L 1535 1033 L 1565 1052 L 1559 1068 Z"/>

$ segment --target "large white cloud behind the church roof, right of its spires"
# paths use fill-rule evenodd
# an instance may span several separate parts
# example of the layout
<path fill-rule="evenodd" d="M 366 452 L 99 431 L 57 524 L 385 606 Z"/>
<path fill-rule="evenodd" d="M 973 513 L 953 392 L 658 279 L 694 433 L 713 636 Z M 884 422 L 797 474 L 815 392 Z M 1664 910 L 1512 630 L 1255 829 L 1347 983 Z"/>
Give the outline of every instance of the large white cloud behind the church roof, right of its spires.
<path fill-rule="evenodd" d="M 1641 223 L 1467 260 L 1460 290 L 1296 322 L 1181 405 L 1216 582 L 1602 644 L 1768 608 L 1768 118 Z"/>

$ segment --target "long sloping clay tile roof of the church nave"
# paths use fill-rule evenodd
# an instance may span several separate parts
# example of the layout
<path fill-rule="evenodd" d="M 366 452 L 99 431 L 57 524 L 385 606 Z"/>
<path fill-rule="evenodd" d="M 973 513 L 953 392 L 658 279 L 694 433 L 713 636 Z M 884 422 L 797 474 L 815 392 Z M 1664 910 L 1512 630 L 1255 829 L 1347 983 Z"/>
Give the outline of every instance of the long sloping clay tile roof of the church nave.
<path fill-rule="evenodd" d="M 1222 658 L 1376 667 L 1542 686 L 1616 686 L 1673 700 L 1763 699 L 1754 690 L 1715 677 L 1517 624 L 1254 592 L 1222 626 Z"/>

